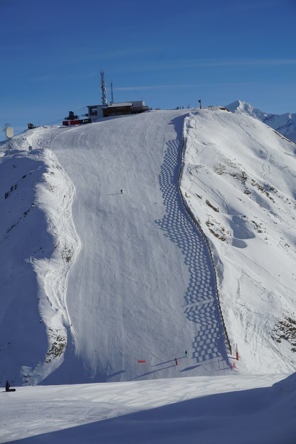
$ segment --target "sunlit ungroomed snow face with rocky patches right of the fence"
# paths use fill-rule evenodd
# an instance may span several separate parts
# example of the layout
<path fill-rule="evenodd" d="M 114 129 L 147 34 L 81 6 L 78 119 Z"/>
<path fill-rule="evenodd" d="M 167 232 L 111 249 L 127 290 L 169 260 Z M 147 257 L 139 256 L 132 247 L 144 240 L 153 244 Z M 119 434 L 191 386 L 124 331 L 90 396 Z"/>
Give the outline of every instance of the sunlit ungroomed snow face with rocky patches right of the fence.
<path fill-rule="evenodd" d="M 182 190 L 213 244 L 241 371 L 295 369 L 295 145 L 218 108 L 186 119 Z"/>

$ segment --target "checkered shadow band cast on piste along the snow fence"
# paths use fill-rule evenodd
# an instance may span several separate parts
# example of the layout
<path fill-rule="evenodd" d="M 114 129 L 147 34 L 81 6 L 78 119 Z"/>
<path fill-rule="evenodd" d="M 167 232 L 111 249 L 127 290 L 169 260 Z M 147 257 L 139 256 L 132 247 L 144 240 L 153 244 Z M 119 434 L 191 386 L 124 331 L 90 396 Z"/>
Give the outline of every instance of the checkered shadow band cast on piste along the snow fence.
<path fill-rule="evenodd" d="M 228 359 L 209 250 L 186 213 L 178 188 L 182 143 L 180 140 L 171 140 L 166 145 L 159 174 L 166 215 L 155 222 L 165 236 L 178 245 L 190 274 L 184 294 L 185 303 L 181 304 L 185 316 L 195 324 L 193 350 L 190 352 L 193 362 L 191 361 L 192 367 L 188 369 L 213 361 L 219 361 L 217 369 L 227 368 Z"/>

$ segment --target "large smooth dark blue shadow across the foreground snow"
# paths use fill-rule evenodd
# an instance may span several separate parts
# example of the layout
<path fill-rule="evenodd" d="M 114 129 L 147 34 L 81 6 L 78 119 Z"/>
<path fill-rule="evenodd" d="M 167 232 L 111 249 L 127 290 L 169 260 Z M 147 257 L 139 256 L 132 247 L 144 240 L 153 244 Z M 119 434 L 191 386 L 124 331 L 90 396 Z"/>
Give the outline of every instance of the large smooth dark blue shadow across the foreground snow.
<path fill-rule="evenodd" d="M 198 382 L 196 385 L 198 396 Z M 222 444 L 229 442 L 229 428 L 235 424 L 241 444 L 294 444 L 296 423 L 292 420 L 293 413 L 284 407 L 281 402 L 284 399 L 272 391 L 268 387 L 201 396 L 11 442 L 166 444 L 174 440 L 187 444 Z M 110 407 L 105 402 L 91 404 L 85 418 L 89 421 Z M 279 405 L 282 407 L 280 411 Z M 81 408 L 77 406 L 77 409 L 79 416 Z"/>

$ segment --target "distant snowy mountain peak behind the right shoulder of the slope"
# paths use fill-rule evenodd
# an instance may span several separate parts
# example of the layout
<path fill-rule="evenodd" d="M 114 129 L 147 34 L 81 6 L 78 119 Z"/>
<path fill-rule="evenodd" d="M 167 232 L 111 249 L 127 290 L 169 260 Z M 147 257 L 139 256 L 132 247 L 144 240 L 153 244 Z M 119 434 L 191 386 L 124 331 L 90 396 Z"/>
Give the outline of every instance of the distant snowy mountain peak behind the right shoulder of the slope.
<path fill-rule="evenodd" d="M 261 120 L 261 122 L 296 143 L 296 113 L 267 114 L 252 107 L 249 103 L 241 102 L 241 100 L 230 103 L 227 105 L 227 109 L 236 114 L 250 115 L 254 119 Z"/>

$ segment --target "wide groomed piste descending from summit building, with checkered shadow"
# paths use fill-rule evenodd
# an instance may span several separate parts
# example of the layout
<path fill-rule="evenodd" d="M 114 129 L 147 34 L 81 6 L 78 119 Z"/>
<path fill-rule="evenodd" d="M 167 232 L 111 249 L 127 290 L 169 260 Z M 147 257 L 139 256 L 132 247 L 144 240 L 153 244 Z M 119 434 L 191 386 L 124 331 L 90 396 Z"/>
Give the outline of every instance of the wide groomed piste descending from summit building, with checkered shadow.
<path fill-rule="evenodd" d="M 67 307 L 91 381 L 229 371 L 209 253 L 178 191 L 178 114 L 104 120 L 51 143 L 75 186 Z"/>

